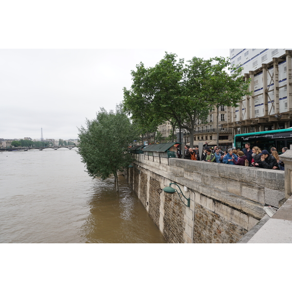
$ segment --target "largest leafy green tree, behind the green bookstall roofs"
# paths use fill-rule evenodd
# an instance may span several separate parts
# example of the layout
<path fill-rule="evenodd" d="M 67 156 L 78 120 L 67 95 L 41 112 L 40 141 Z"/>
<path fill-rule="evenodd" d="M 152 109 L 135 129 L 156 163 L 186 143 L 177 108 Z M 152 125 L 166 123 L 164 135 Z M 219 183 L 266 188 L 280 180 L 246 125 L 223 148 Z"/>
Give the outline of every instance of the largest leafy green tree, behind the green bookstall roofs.
<path fill-rule="evenodd" d="M 124 107 L 134 120 L 142 119 L 156 128 L 166 120 L 175 120 L 190 132 L 193 146 L 195 127 L 208 114 L 202 82 L 210 61 L 193 58 L 184 67 L 183 59 L 177 61 L 176 57 L 165 53 L 155 67 L 137 65 L 137 70 L 131 71 L 131 89 L 124 88 Z"/>

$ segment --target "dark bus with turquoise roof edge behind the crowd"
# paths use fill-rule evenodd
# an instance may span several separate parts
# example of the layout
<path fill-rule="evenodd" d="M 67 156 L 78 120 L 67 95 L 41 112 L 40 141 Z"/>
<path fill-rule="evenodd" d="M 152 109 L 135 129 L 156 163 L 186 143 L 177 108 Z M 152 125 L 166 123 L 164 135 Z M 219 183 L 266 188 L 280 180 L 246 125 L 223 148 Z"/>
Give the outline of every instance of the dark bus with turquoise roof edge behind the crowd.
<path fill-rule="evenodd" d="M 254 146 L 261 150 L 268 150 L 275 147 L 278 152 L 282 153 L 283 147 L 288 147 L 292 144 L 292 127 L 287 129 L 263 131 L 256 133 L 237 134 L 234 136 L 234 145 L 236 149 L 245 148 L 245 144 L 249 142 L 251 149 Z"/>

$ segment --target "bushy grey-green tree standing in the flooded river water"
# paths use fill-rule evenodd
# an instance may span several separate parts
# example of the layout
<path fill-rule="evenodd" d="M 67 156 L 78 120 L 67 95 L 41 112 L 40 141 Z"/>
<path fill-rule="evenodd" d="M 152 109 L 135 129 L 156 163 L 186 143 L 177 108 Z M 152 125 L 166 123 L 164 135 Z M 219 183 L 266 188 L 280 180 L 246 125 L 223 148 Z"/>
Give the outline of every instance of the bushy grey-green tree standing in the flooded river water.
<path fill-rule="evenodd" d="M 88 174 L 102 180 L 113 174 L 118 190 L 117 172 L 133 161 L 128 145 L 138 137 L 122 106 L 117 106 L 115 113 L 101 108 L 95 119 L 86 120 L 86 128 L 78 130 L 78 153 Z"/>

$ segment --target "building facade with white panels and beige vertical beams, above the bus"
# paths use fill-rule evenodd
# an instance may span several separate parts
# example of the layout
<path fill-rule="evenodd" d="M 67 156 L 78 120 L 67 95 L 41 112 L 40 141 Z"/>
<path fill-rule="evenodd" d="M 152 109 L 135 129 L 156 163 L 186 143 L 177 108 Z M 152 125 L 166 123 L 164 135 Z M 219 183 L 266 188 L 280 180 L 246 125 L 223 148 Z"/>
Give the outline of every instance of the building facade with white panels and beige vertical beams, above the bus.
<path fill-rule="evenodd" d="M 239 61 L 242 60 L 247 52 L 251 52 L 248 53 L 250 58 L 247 59 L 247 55 L 243 59 L 245 63 L 237 64 L 238 58 L 241 56 Z M 257 55 L 252 55 L 253 52 Z M 244 66 L 244 78 L 250 79 L 249 91 L 252 93 L 244 96 L 237 107 L 228 110 L 225 127 L 232 128 L 233 135 L 289 128 L 292 118 L 292 51 L 232 49 L 232 55 L 235 65 Z"/>

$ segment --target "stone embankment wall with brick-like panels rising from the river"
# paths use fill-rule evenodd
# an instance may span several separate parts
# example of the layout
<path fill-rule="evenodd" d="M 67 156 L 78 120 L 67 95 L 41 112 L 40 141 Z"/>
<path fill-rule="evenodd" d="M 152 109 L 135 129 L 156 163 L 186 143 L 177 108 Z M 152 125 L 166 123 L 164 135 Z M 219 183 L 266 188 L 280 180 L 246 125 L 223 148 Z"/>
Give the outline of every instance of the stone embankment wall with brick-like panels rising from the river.
<path fill-rule="evenodd" d="M 284 171 L 133 155 L 128 183 L 170 243 L 237 242 L 266 215 L 264 206 L 285 201 Z M 190 207 L 162 191 L 169 183 Z"/>

